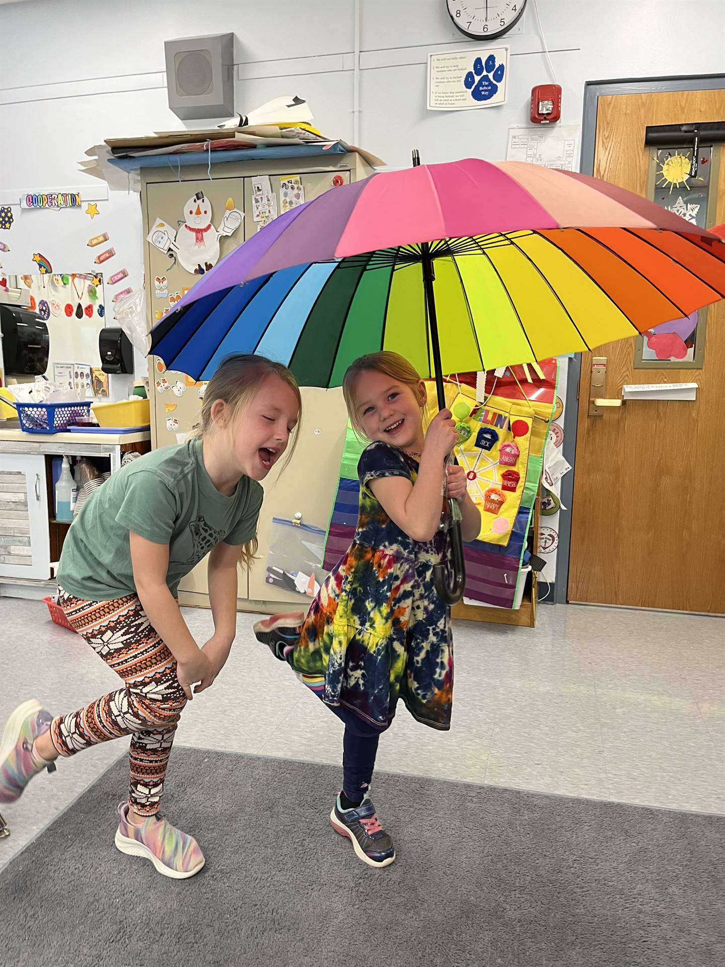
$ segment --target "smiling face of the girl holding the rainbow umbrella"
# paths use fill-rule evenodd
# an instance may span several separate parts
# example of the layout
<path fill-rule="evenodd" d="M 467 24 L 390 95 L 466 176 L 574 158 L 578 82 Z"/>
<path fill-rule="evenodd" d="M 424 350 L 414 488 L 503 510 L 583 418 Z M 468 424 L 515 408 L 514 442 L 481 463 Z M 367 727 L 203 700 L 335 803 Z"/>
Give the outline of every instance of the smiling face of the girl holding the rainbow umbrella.
<path fill-rule="evenodd" d="M 415 391 L 406 383 L 396 383 L 384 372 L 363 369 L 355 383 L 355 397 L 357 415 L 368 440 L 382 440 L 401 450 L 422 448 L 422 382 Z"/>

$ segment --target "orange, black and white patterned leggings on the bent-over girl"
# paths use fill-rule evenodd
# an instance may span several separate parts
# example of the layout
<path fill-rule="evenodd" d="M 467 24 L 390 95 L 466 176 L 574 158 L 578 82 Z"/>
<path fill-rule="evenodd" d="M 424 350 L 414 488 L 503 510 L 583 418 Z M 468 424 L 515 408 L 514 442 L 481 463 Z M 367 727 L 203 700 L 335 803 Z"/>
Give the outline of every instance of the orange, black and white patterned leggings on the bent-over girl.
<path fill-rule="evenodd" d="M 176 659 L 151 627 L 135 595 L 81 601 L 58 589 L 66 617 L 97 655 L 126 683 L 77 712 L 54 718 L 53 745 L 61 755 L 131 735 L 129 802 L 143 815 L 159 809 L 176 724 L 187 704 Z"/>

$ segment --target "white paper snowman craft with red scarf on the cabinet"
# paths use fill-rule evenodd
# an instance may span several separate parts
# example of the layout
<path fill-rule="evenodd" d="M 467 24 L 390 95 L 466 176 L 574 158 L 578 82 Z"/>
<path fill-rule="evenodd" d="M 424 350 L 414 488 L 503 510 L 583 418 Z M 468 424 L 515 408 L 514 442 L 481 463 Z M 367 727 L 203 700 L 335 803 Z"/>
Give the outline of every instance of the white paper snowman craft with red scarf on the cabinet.
<path fill-rule="evenodd" d="M 197 191 L 184 206 L 184 220 L 180 220 L 178 231 L 157 219 L 146 239 L 161 251 L 173 252 L 191 275 L 203 276 L 219 260 L 219 239 L 235 232 L 243 218 L 238 208 L 227 207 L 221 224 L 215 228 L 212 203 L 203 191 Z"/>

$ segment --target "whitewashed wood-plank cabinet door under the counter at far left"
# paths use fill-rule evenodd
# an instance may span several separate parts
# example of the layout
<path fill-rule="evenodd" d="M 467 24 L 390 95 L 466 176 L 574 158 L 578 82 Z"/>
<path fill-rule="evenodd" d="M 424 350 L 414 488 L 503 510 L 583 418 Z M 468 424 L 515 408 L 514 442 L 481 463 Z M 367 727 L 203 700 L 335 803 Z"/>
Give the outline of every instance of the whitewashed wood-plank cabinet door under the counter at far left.
<path fill-rule="evenodd" d="M 50 577 L 41 454 L 0 454 L 0 577 Z"/>

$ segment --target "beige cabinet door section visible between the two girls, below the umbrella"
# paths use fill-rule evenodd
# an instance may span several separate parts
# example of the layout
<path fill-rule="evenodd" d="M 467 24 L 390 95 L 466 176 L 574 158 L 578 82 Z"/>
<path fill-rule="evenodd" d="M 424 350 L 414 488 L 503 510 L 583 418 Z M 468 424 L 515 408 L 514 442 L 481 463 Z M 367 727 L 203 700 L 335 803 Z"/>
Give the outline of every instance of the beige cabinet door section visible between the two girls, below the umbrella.
<path fill-rule="evenodd" d="M 289 601 L 304 609 L 307 599 L 267 583 L 272 518 L 292 520 L 302 514 L 305 524 L 327 531 L 339 479 L 345 442 L 347 412 L 342 390 L 303 387 L 300 438 L 288 466 L 284 457 L 264 482 L 264 503 L 259 517 L 259 558 L 249 571 L 249 598 L 253 601 Z"/>

